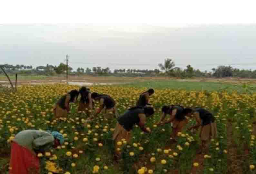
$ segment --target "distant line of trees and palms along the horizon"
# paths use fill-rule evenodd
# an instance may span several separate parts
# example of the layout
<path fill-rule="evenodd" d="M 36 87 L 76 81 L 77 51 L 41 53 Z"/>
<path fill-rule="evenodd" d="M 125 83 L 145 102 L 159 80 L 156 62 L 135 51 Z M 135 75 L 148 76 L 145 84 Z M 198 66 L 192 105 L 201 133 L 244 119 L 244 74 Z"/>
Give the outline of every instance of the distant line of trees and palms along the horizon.
<path fill-rule="evenodd" d="M 25 74 L 25 75 L 58 75 L 66 73 L 67 65 L 60 63 L 58 66 L 49 65 L 34 67 L 29 65 L 9 65 L 4 64 L 2 66 L 6 72 L 10 74 Z M 200 71 L 194 69 L 191 65 L 187 65 L 185 69 L 176 67 L 175 62 L 172 59 L 165 59 L 163 63 L 158 64 L 159 69 L 148 70 L 148 69 L 115 69 L 110 70 L 109 67 L 102 68 L 100 66 L 92 68 L 79 67 L 76 71 L 73 71 L 71 66 L 68 67 L 69 74 L 71 75 L 115 75 L 115 76 L 169 76 L 179 78 L 191 78 L 191 77 L 238 77 L 238 78 L 256 78 L 256 70 L 244 70 L 233 68 L 232 66 L 218 66 L 212 68 L 212 71 Z M 3 72 L 0 71 L 0 74 Z"/>

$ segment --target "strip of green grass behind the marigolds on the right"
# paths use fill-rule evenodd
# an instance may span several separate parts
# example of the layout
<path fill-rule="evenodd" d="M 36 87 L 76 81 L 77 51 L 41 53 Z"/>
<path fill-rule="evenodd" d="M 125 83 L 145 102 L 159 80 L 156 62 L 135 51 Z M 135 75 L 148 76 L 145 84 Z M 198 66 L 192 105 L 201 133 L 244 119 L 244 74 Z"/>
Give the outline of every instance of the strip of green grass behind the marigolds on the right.
<path fill-rule="evenodd" d="M 122 84 L 125 87 L 135 87 L 135 88 L 154 88 L 154 89 L 175 89 L 175 90 L 206 90 L 206 91 L 221 91 L 221 90 L 236 90 L 239 92 L 244 91 L 242 86 L 232 85 L 226 83 L 217 82 L 179 82 L 177 80 L 148 80 L 144 82 L 133 82 L 128 84 Z M 254 85 L 255 86 L 255 85 Z M 253 89 L 256 91 L 256 89 Z"/>

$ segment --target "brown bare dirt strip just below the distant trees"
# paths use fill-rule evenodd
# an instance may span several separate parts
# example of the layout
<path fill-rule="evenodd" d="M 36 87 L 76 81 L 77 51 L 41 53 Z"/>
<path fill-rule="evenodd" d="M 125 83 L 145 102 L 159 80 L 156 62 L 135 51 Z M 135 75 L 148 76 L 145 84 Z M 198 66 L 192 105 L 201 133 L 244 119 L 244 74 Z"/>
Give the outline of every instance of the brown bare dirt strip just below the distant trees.
<path fill-rule="evenodd" d="M 41 80 L 19 80 L 17 85 L 24 84 L 53 84 L 53 83 L 66 83 L 65 77 L 46 77 Z M 179 78 L 169 78 L 169 77 L 94 77 L 89 75 L 84 76 L 70 76 L 68 79 L 69 84 L 77 85 L 94 85 L 94 84 L 122 84 L 122 83 L 131 83 L 134 81 L 147 81 L 147 80 L 177 80 L 179 82 L 221 82 L 229 84 L 242 84 L 242 83 L 256 83 L 256 79 L 239 79 L 239 78 L 191 78 L 191 79 L 179 79 Z M 12 80 L 12 83 L 15 84 L 15 81 Z M 9 85 L 7 78 L 0 79 L 0 85 Z"/>

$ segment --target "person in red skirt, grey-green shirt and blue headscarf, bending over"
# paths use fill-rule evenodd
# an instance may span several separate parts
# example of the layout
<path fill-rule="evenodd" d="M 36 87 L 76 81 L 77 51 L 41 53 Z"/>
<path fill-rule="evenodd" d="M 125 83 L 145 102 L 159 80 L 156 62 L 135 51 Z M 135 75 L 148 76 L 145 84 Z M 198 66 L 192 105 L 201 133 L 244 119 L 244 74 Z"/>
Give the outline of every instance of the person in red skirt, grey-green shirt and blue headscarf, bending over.
<path fill-rule="evenodd" d="M 44 152 L 64 143 L 59 132 L 24 130 L 19 132 L 11 143 L 9 174 L 39 174 L 40 160 L 35 151 Z"/>

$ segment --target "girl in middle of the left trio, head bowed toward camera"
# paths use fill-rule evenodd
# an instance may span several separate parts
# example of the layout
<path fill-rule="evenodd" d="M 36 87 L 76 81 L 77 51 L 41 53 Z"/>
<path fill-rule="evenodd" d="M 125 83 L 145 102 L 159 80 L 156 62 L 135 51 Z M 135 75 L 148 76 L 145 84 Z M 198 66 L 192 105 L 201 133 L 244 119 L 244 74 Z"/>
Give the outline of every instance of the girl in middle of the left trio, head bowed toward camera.
<path fill-rule="evenodd" d="M 82 87 L 79 90 L 81 99 L 78 104 L 78 112 L 86 112 L 87 117 L 90 116 L 90 110 L 93 109 L 93 99 L 89 88 Z"/>

